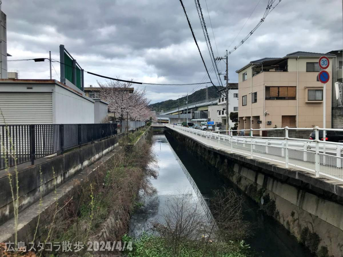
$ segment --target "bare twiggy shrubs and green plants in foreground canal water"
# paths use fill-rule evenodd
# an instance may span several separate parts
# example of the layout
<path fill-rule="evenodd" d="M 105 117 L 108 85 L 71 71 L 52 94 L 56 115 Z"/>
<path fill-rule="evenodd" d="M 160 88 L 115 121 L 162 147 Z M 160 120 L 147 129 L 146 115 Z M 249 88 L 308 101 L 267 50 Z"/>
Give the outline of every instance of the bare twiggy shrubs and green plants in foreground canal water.
<path fill-rule="evenodd" d="M 250 224 L 243 220 L 243 199 L 233 189 L 214 191 L 208 209 L 190 193 L 167 200 L 163 222 L 134 240 L 128 256 L 253 256 L 244 238 Z M 125 235 L 124 241 L 132 240 Z"/>

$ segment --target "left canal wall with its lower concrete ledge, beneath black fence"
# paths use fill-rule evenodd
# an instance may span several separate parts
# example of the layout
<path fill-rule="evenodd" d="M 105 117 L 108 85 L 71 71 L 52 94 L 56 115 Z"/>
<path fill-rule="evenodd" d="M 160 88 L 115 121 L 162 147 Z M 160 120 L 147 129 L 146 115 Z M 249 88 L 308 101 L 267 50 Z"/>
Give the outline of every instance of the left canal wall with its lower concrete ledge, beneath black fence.
<path fill-rule="evenodd" d="M 140 129 L 129 131 L 134 133 Z M 149 132 L 150 129 L 146 130 Z M 144 133 L 137 144 L 149 133 Z M 52 217 L 52 212 L 58 203 L 63 206 L 66 199 L 76 201 L 80 187 L 88 183 L 95 176 L 95 170 L 99 167 L 106 167 L 108 161 L 114 156 L 113 150 L 118 146 L 119 139 L 126 134 L 118 134 L 100 142 L 77 148 L 63 155 L 55 156 L 50 159 L 36 161 L 34 166 L 19 170 L 19 221 L 18 238 L 23 241 L 31 242 L 38 223 L 44 224 Z M 28 164 L 26 164 L 28 165 Z M 54 167 L 54 172 L 52 172 Z M 20 167 L 19 167 L 20 168 Z M 42 172 L 42 175 L 40 175 Z M 14 175 L 12 174 L 12 180 Z M 13 181 L 12 181 L 13 182 Z M 14 183 L 14 182 L 13 182 Z M 55 191 L 56 183 L 56 192 Z M 0 242 L 14 240 L 14 219 L 13 202 L 11 188 L 8 177 L 3 174 L 0 177 Z M 14 184 L 13 184 L 13 188 Z M 42 204 L 39 199 L 42 197 Z"/>

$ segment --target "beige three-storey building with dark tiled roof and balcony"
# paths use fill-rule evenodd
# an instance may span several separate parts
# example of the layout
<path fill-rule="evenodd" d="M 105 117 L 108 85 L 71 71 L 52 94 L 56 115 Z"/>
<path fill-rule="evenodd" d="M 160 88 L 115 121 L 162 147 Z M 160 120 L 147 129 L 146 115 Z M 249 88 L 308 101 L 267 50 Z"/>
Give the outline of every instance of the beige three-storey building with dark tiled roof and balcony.
<path fill-rule="evenodd" d="M 335 54 L 297 51 L 283 58 L 251 61 L 238 73 L 238 129 L 323 127 L 323 84 L 317 81 L 327 56 L 326 127 L 331 128 L 332 63 Z M 246 134 L 249 134 L 246 132 Z M 262 132 L 254 132 L 254 135 Z"/>

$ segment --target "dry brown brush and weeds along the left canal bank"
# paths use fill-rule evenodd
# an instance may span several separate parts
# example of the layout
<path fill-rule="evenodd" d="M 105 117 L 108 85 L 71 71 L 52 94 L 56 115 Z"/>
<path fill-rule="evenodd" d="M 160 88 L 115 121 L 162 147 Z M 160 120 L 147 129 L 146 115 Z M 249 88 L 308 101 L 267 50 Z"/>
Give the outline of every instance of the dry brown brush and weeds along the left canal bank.
<path fill-rule="evenodd" d="M 145 136 L 144 132 L 150 133 L 140 131 L 134 138 Z M 82 184 L 75 182 L 76 196 L 66 199 L 62 208 L 56 206 L 58 211 L 51 213 L 53 222 L 39 224 L 46 228 L 42 238 L 46 242 L 83 242 L 85 246 L 88 241 L 120 241 L 139 190 L 147 195 L 155 190 L 149 179 L 157 177 L 150 137 L 130 150 L 127 145 L 132 140 L 122 137 L 106 164 L 95 168 Z M 86 249 L 80 254 L 86 254 Z"/>

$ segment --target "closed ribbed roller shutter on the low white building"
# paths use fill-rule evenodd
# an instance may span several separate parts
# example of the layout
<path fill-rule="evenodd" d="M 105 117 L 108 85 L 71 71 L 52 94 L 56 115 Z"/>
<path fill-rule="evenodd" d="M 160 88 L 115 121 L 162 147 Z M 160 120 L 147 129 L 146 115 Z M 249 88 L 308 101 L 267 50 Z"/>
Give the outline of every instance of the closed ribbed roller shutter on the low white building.
<path fill-rule="evenodd" d="M 0 93 L 0 108 L 7 124 L 52 124 L 52 93 Z"/>

